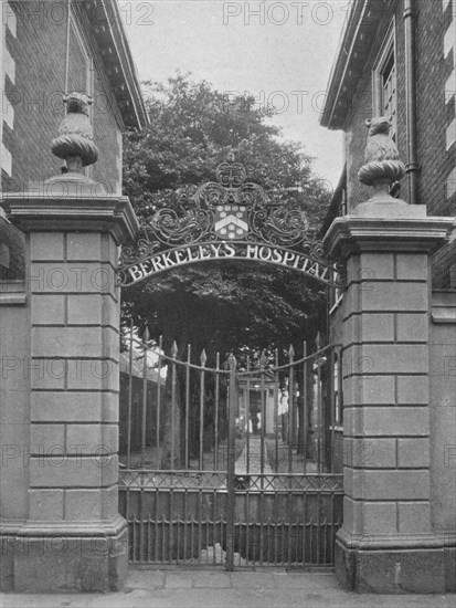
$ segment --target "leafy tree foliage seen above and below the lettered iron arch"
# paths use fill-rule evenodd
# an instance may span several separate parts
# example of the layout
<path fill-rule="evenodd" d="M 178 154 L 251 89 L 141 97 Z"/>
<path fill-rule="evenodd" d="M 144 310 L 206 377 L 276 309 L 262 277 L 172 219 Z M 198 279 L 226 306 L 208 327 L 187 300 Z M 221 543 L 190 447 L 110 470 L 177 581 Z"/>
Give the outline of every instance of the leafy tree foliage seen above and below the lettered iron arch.
<path fill-rule="evenodd" d="M 208 82 L 177 74 L 167 84 L 147 83 L 150 125 L 125 138 L 124 187 L 137 214 L 147 220 L 176 205 L 177 191 L 191 192 L 214 179 L 233 150 L 248 181 L 291 199 L 319 227 L 329 203 L 312 158 L 286 141 L 268 123 L 273 112 L 252 99 L 227 99 Z M 193 353 L 286 349 L 314 340 L 326 317 L 326 290 L 311 279 L 271 265 L 205 262 L 173 269 L 123 290 L 123 319 L 147 324 L 152 337 L 176 339 L 180 356 Z M 213 359 L 212 359 L 213 363 Z"/>

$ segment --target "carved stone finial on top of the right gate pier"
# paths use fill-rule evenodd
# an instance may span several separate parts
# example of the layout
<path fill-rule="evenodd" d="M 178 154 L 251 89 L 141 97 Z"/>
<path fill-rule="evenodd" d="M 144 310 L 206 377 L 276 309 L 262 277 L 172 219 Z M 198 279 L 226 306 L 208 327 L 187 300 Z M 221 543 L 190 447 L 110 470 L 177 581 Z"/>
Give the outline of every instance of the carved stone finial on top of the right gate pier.
<path fill-rule="evenodd" d="M 365 120 L 369 128 L 364 165 L 358 174 L 361 184 L 373 186 L 373 198 L 386 197 L 389 187 L 405 175 L 405 165 L 399 158 L 395 143 L 390 137 L 391 122 L 385 116 Z"/>

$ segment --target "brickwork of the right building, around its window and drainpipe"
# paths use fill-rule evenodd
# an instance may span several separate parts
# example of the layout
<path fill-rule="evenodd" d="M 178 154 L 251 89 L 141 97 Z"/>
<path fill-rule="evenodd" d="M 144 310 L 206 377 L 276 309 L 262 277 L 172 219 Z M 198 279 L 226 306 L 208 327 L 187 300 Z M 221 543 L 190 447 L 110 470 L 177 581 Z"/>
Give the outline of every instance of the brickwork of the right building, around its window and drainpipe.
<path fill-rule="evenodd" d="M 453 8 L 453 4 L 455 8 Z M 421 165 L 420 202 L 430 214 L 456 216 L 456 0 L 418 2 L 416 25 L 417 150 Z M 347 163 L 349 209 L 369 197 L 370 189 L 358 181 L 363 163 L 367 129 L 364 119 L 372 113 L 372 67 L 393 15 L 379 27 L 364 76 L 353 92 L 353 105 L 347 122 Z M 456 14 L 454 15 L 456 20 Z M 445 43 L 445 44 L 444 44 Z M 455 49 L 453 48 L 455 46 Z M 403 0 L 395 8 L 395 49 L 397 86 L 397 147 L 406 154 L 405 36 Z M 448 196 L 449 195 L 449 196 Z M 407 200 L 406 179 L 400 197 Z M 456 242 L 434 256 L 433 281 L 449 286 L 448 269 L 456 260 Z"/>

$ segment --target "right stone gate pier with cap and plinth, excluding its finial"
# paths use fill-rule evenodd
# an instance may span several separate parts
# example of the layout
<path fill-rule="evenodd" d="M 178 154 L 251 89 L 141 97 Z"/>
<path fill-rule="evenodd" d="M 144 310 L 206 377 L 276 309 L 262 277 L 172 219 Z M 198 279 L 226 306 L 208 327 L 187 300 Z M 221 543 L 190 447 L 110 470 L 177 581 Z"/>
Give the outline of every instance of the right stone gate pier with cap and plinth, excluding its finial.
<path fill-rule="evenodd" d="M 325 239 L 328 253 L 347 262 L 346 496 L 336 572 L 350 589 L 454 590 L 454 496 L 450 484 L 444 505 L 436 496 L 445 439 L 432 431 L 430 390 L 432 367 L 434 380 L 444 380 L 430 359 L 430 256 L 453 228 L 453 218 L 386 196 L 335 220 Z"/>

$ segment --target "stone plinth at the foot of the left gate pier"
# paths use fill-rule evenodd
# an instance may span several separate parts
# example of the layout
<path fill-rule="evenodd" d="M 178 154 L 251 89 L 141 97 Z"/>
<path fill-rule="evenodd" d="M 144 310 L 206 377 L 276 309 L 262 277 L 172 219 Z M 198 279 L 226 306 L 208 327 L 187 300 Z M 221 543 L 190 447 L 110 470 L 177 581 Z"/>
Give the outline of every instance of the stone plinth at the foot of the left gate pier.
<path fill-rule="evenodd" d="M 104 526 L 36 522 L 0 535 L 0 590 L 18 593 L 117 591 L 127 575 L 123 517 Z"/>

